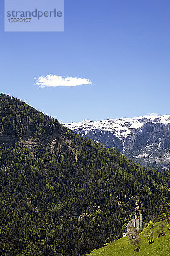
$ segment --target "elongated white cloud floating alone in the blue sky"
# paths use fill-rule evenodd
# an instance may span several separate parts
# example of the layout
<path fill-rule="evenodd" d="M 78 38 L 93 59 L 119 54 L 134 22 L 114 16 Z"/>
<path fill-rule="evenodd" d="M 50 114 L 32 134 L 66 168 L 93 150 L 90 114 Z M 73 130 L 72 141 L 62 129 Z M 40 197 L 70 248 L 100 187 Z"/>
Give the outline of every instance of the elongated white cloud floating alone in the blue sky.
<path fill-rule="evenodd" d="M 45 88 L 56 86 L 78 86 L 82 84 L 91 84 L 91 81 L 86 78 L 47 75 L 38 77 L 35 84 L 39 85 L 40 88 Z"/>

